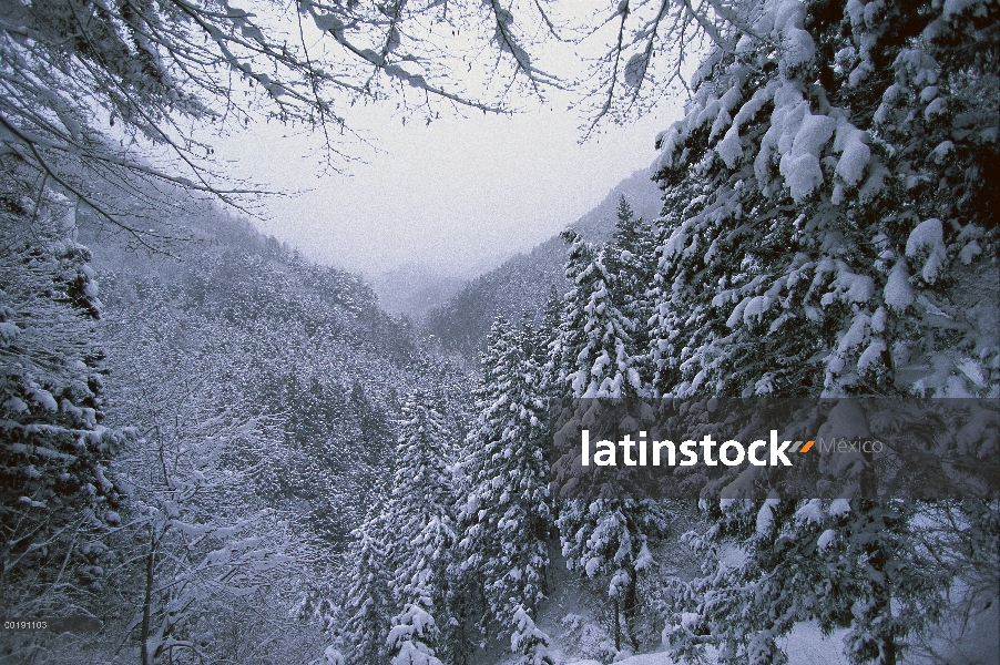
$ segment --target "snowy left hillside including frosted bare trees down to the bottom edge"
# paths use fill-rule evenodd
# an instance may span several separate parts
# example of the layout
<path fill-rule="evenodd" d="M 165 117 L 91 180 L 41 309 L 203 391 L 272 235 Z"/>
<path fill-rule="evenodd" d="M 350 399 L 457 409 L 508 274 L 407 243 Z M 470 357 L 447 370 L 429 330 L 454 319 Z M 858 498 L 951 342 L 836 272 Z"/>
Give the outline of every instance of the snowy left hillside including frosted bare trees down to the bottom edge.
<path fill-rule="evenodd" d="M 8 563 L 3 596 L 19 615 L 70 601 L 104 628 L 84 645 L 9 642 L 4 662 L 115 648 L 139 659 L 114 646 L 131 634 L 154 658 L 195 645 L 213 662 L 309 661 L 346 592 L 351 532 L 391 487 L 406 393 L 424 387 L 463 421 L 462 376 L 358 277 L 192 205 L 163 229 L 183 239 L 159 253 L 93 217 L 71 221 L 90 247 L 78 250 L 93 253 L 99 431 L 118 433 L 96 521 L 74 535 L 84 542 L 50 544 L 31 583 Z M 45 571 L 53 555 L 59 570 Z M 40 605 L 50 574 L 72 591 Z"/>

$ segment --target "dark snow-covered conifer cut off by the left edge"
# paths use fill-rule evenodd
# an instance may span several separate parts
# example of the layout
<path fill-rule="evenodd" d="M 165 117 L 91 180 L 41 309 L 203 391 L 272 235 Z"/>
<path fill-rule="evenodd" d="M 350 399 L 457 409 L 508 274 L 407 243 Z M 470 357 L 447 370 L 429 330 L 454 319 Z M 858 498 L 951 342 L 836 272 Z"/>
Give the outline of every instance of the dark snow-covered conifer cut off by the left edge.
<path fill-rule="evenodd" d="M 126 440 L 102 424 L 101 315 L 90 250 L 76 244 L 74 206 L 55 192 L 29 213 L 0 211 L 0 595 L 8 612 L 48 612 L 65 600 L 85 531 L 116 519 L 110 460 Z M 62 534 L 57 538 L 58 534 Z M 78 538 L 80 539 L 78 541 Z M 54 585 L 54 586 L 53 586 Z M 48 596 L 48 597 L 45 597 Z M 28 604 L 21 604 L 21 603 Z"/>

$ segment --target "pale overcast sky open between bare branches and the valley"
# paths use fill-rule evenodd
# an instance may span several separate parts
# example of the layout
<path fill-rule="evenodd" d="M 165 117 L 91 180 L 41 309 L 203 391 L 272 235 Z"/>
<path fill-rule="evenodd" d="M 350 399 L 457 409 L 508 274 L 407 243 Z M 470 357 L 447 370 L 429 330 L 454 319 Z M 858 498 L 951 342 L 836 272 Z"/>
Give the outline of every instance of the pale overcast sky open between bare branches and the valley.
<path fill-rule="evenodd" d="M 322 173 L 320 141 L 277 124 L 216 140 L 215 156 L 256 183 L 302 192 L 267 201 L 268 219 L 256 224 L 310 258 L 368 276 L 416 264 L 468 277 L 552 236 L 649 167 L 676 109 L 666 101 L 580 145 L 582 119 L 564 103 L 513 116 L 442 114 L 430 125 L 404 125 L 386 104 L 349 119 L 375 149 L 348 146 L 363 162 L 346 174 Z"/>

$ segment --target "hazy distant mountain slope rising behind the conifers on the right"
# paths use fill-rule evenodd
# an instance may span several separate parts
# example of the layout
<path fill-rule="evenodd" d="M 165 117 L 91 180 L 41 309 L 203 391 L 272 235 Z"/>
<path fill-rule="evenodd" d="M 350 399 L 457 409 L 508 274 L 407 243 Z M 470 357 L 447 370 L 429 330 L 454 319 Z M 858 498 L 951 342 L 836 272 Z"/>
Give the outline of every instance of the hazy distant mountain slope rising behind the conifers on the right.
<path fill-rule="evenodd" d="M 585 239 L 603 243 L 611 237 L 621 196 L 637 217 L 654 221 L 660 216 L 661 192 L 641 168 L 619 183 L 595 208 L 571 225 Z M 554 287 L 565 289 L 563 263 L 567 245 L 554 236 L 528 254 L 518 254 L 501 266 L 471 280 L 450 300 L 430 311 L 425 328 L 440 342 L 476 361 L 498 314 L 509 319 L 527 311 L 539 319 Z"/>

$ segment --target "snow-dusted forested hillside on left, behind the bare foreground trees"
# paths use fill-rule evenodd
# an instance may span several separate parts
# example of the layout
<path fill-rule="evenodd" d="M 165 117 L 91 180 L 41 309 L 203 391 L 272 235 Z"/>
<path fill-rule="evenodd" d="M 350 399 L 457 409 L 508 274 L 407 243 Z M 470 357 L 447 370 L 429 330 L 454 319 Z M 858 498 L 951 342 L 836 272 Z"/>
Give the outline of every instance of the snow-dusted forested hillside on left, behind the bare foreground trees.
<path fill-rule="evenodd" d="M 83 226 L 102 285 L 110 420 L 162 419 L 130 395 L 165 389 L 165 376 L 269 420 L 290 457 L 268 470 L 268 495 L 343 543 L 391 475 L 406 391 L 443 390 L 461 376 L 386 315 L 357 276 L 312 264 L 217 211 L 203 215 L 190 229 L 198 239 L 177 243 L 176 257 L 127 252 Z"/>

